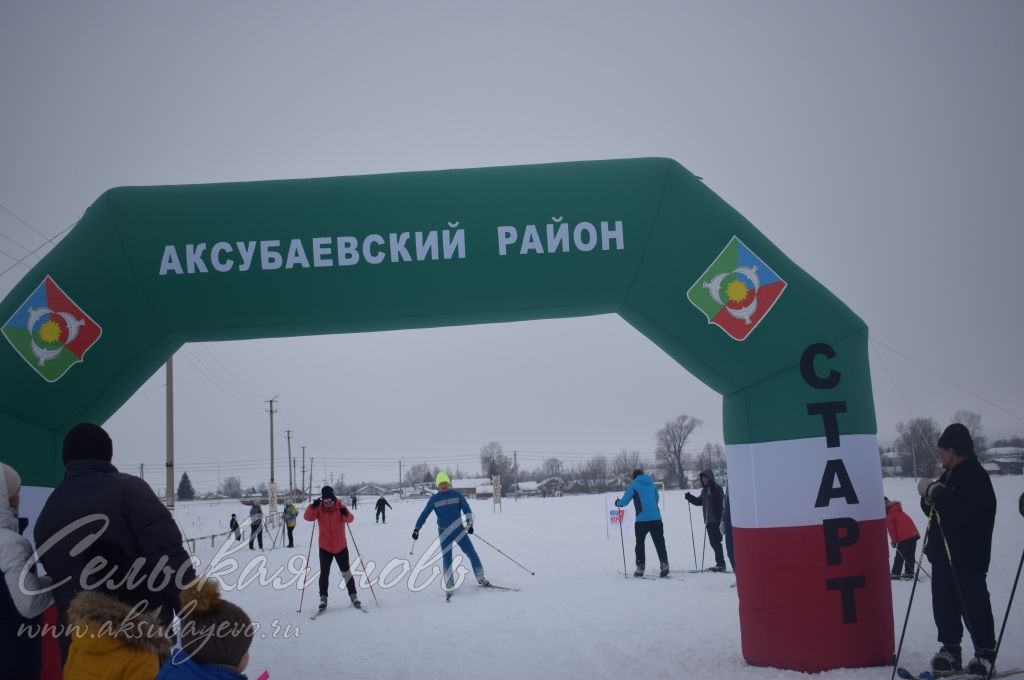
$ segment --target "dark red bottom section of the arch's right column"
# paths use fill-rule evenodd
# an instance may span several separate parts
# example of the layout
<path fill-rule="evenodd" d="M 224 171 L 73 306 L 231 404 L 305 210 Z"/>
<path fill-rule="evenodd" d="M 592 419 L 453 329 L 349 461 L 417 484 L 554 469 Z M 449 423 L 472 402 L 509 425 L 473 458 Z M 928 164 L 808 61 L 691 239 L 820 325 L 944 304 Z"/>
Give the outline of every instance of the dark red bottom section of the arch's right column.
<path fill-rule="evenodd" d="M 821 525 L 733 527 L 743 658 L 807 673 L 892 663 L 892 585 L 885 519 L 859 522 L 860 537 L 826 564 Z M 862 577 L 856 622 L 843 621 L 833 579 Z"/>

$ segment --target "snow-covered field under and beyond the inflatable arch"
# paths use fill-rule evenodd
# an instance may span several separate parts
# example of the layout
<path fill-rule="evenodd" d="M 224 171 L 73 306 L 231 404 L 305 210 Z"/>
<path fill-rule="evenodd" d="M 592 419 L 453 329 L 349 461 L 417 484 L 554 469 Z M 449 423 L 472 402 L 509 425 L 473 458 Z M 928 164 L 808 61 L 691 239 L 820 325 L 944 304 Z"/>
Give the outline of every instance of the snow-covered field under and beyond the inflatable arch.
<path fill-rule="evenodd" d="M 1024 517 L 1017 500 L 1024 491 L 1020 476 L 993 477 L 998 498 L 992 567 L 988 587 L 992 594 L 996 633 L 1006 612 L 1014 576 L 1024 547 Z M 886 479 L 889 498 L 904 509 L 924 530 L 916 507 L 916 488 L 909 479 Z M 411 586 L 412 573 L 401 575 L 393 565 L 384 588 L 375 586 L 378 606 L 368 590 L 360 597 L 369 613 L 348 605 L 339 590 L 340 575 L 331 576 L 331 606 L 317 619 L 315 582 L 305 593 L 298 612 L 300 592 L 288 571 L 289 560 L 301 569 L 309 548 L 311 524 L 299 519 L 295 548 L 269 549 L 265 542 L 264 573 L 283 571 L 281 581 L 291 586 L 249 583 L 258 577 L 259 562 L 248 546 L 231 555 L 239 567 L 227 572 L 218 567 L 225 597 L 243 606 L 262 626 L 252 648 L 249 677 L 262 670 L 278 680 L 298 677 L 389 680 L 424 676 L 532 680 L 547 678 L 798 678 L 802 674 L 748 666 L 739 651 L 739 625 L 734 577 L 715 573 L 673 575 L 670 581 L 626 579 L 617 529 L 606 538 L 605 496 L 506 500 L 501 513 L 492 512 L 490 501 L 471 501 L 480 538 L 537 572 L 530 576 L 480 541 L 474 541 L 488 578 L 496 584 L 521 588 L 520 592 L 479 590 L 469 584 L 451 603 L 444 602 L 438 581 L 427 581 L 429 567 Z M 374 564 L 375 576 L 393 559 L 409 560 L 415 567 L 436 538 L 433 517 L 410 556 L 411 538 L 424 501 L 390 500 L 386 524 L 373 519 L 373 501 L 360 499 L 352 524 L 362 556 Z M 682 493 L 665 495 L 664 518 L 669 558 L 674 569 L 693 567 L 690 513 Z M 301 508 L 300 508 L 301 510 Z M 181 503 L 176 518 L 187 537 L 226 530 L 230 513 L 246 517 L 248 508 L 237 502 Z M 693 532 L 700 559 L 699 509 L 694 508 Z M 627 515 L 627 563 L 632 566 L 632 512 Z M 268 537 L 264 536 L 266 540 Z M 425 540 L 426 539 L 426 540 Z M 236 544 L 237 545 L 237 544 Z M 196 556 L 209 564 L 214 553 L 210 540 L 197 545 Z M 279 544 L 280 546 L 280 544 Z M 351 551 L 351 541 L 349 541 Z M 920 544 L 919 544 L 920 551 Z M 257 551 L 258 552 L 258 551 Z M 457 551 L 457 554 L 458 551 Z M 654 562 L 648 542 L 648 564 Z M 709 550 L 708 563 L 713 563 Z M 315 547 L 313 548 L 315 561 Z M 249 563 L 248 571 L 246 564 Z M 226 564 L 226 563 L 225 563 Z M 927 564 L 927 560 L 926 560 Z M 648 567 L 650 572 L 650 567 Z M 893 584 L 895 630 L 903 625 L 912 584 Z M 1024 597 L 1011 612 L 999 666 L 1024 666 Z M 799 635 L 800 631 L 794 631 Z M 932 622 L 928 584 L 919 586 L 901 665 L 921 670 L 938 648 Z M 965 661 L 973 651 L 965 640 Z M 821 674 L 825 680 L 889 678 L 891 668 L 841 669 Z"/>

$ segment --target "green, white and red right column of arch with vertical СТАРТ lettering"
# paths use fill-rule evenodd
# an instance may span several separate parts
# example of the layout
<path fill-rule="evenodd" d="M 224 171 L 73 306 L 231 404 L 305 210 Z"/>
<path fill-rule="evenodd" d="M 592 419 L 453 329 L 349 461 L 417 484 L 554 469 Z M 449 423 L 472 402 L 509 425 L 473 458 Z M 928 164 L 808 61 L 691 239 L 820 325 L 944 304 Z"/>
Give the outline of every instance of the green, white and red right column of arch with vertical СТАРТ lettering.
<path fill-rule="evenodd" d="M 863 381 L 851 376 L 855 389 L 844 391 L 836 370 L 862 345 L 866 334 L 838 348 L 812 344 L 799 368 L 726 396 L 740 637 L 751 664 L 817 672 L 891 663 L 878 442 L 853 433 L 865 420 L 853 383 Z M 802 409 L 777 400 L 802 387 L 811 390 Z M 772 392 L 775 400 L 762 398 Z M 795 435 L 783 438 L 787 422 Z M 806 436 L 808 425 L 820 435 Z"/>

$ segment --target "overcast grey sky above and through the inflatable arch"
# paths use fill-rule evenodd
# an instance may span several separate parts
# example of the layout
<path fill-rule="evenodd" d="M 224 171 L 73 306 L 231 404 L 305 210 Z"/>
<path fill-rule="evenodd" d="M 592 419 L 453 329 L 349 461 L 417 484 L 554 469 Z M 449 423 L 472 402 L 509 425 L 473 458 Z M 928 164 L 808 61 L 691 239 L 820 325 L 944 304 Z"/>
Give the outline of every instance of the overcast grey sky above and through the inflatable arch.
<path fill-rule="evenodd" d="M 1024 434 L 1022 65 L 1019 2 L 0 0 L 0 295 L 112 186 L 666 156 L 864 318 L 882 443 L 957 409 Z M 525 467 L 652 452 L 681 413 L 694 449 L 722 440 L 721 398 L 617 316 L 186 345 L 175 368 L 201 490 L 218 462 L 268 477 L 274 395 L 279 462 L 291 429 L 346 482 L 475 471 L 489 440 Z M 158 488 L 163 384 L 108 423 Z"/>

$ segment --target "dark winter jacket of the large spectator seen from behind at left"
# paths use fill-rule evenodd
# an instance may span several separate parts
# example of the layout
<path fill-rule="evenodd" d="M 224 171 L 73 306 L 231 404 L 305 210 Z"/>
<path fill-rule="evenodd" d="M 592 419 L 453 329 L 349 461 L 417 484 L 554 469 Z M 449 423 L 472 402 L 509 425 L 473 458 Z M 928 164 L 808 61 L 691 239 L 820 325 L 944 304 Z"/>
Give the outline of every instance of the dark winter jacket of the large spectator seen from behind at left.
<path fill-rule="evenodd" d="M 66 530 L 76 520 L 88 516 L 96 518 Z M 105 528 L 102 528 L 102 518 L 110 522 Z M 47 546 L 60 534 L 60 538 Z M 72 598 L 84 590 L 80 582 L 89 551 L 71 555 L 71 549 L 80 541 L 94 544 L 102 540 L 117 544 L 128 560 L 145 559 L 143 572 L 146 575 L 153 573 L 158 566 L 163 567 L 164 573 L 170 569 L 169 578 L 157 576 L 138 585 L 141 589 L 139 599 L 147 599 L 151 607 L 161 605 L 161 619 L 165 623 L 170 621 L 172 610 L 180 607 L 176 585 L 179 569 L 181 583 L 196 576 L 174 518 L 150 485 L 136 476 L 118 472 L 116 467 L 103 461 L 70 461 L 65 466 L 63 480 L 50 494 L 36 520 L 35 538 L 36 550 L 46 572 L 55 583 L 63 582 L 54 592 L 61 621 Z M 161 559 L 163 564 L 160 564 Z M 110 569 L 103 572 L 106 571 Z M 118 581 L 123 578 L 124 575 L 115 575 Z M 95 586 L 97 577 L 92 575 L 86 581 Z M 132 581 L 136 581 L 134 576 Z"/>

